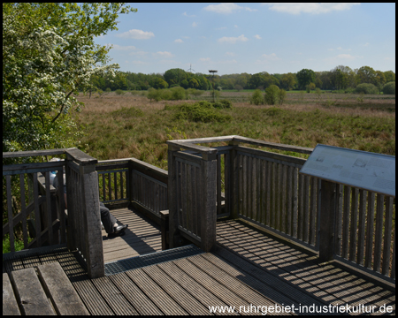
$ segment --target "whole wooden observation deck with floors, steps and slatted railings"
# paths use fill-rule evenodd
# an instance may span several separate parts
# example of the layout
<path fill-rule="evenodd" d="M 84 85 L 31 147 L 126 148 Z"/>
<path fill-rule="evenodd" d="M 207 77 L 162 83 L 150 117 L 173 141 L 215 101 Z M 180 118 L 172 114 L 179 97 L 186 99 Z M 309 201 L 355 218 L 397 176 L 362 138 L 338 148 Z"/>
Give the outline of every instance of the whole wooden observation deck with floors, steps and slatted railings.
<path fill-rule="evenodd" d="M 227 136 L 170 141 L 168 173 L 75 149 L 4 166 L 7 198 L 27 193 L 4 231 L 33 240 L 3 255 L 3 313 L 395 314 L 394 197 L 338 185 L 333 259 L 321 261 L 320 180 L 298 174 L 305 159 L 243 142 L 311 152 Z M 64 165 L 67 215 L 46 186 Z M 128 223 L 124 236 L 107 238 L 93 201 Z"/>

